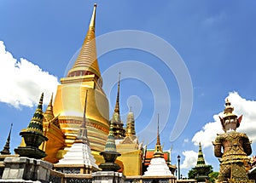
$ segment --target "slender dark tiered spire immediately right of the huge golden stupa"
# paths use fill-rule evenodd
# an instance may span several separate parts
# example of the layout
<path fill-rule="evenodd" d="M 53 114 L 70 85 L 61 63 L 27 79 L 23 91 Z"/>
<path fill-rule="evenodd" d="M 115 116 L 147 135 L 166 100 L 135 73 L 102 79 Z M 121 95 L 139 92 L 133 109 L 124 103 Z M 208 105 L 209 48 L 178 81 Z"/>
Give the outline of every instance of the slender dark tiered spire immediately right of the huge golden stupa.
<path fill-rule="evenodd" d="M 120 109 L 119 109 L 119 94 L 120 94 L 120 75 L 119 72 L 119 82 L 118 82 L 118 91 L 116 95 L 116 103 L 114 107 L 113 117 L 111 119 L 111 123 L 113 123 L 113 134 L 116 140 L 124 139 L 125 137 L 125 129 L 124 123 L 121 121 L 120 117 Z"/>

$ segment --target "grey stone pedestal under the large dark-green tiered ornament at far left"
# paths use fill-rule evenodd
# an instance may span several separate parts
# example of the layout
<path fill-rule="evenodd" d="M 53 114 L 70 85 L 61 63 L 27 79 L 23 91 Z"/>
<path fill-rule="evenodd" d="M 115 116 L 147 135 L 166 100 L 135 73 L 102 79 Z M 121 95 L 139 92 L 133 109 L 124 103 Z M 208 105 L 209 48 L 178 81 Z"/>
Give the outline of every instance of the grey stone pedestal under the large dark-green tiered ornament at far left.
<path fill-rule="evenodd" d="M 0 182 L 49 182 L 53 165 L 40 159 L 28 157 L 6 157 Z"/>

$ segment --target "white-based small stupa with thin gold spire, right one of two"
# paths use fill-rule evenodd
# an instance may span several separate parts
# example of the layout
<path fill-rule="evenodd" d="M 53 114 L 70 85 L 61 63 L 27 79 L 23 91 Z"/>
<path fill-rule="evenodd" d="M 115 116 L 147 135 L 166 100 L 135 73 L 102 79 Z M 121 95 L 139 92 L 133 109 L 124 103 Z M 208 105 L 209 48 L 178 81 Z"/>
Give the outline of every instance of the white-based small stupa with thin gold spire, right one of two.
<path fill-rule="evenodd" d="M 172 172 L 166 164 L 166 160 L 164 158 L 164 153 L 162 151 L 162 146 L 160 144 L 160 134 L 159 134 L 159 115 L 157 120 L 157 135 L 156 135 L 156 144 L 154 146 L 154 155 L 148 165 L 147 171 L 143 174 L 143 176 L 151 177 L 151 176 L 172 176 Z"/>

